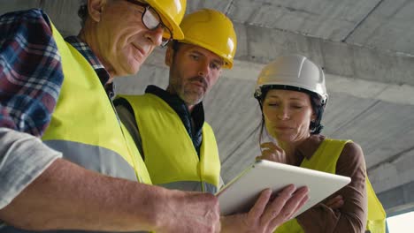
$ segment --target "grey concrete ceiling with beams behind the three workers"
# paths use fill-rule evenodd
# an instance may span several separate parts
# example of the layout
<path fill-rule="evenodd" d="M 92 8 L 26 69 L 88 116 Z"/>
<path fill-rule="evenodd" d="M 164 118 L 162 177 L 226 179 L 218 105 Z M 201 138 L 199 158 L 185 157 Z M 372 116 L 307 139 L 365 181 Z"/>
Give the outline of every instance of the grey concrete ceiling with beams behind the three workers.
<path fill-rule="evenodd" d="M 41 7 L 63 34 L 77 34 L 80 1 L 4 1 L 0 13 Z M 238 50 L 204 101 L 227 182 L 259 154 L 260 113 L 253 99 L 264 64 L 299 53 L 324 67 L 329 101 L 323 133 L 364 149 L 368 175 L 388 214 L 414 207 L 414 1 L 188 0 L 188 12 L 223 11 L 234 21 Z M 137 77 L 116 80 L 122 94 L 165 87 L 156 49 Z"/>

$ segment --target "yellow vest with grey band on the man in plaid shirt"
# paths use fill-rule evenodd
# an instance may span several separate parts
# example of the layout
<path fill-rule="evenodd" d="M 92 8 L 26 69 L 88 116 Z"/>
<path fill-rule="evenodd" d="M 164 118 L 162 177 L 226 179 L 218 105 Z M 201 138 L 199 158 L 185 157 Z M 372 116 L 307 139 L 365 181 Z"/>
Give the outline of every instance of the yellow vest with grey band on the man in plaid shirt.
<path fill-rule="evenodd" d="M 53 25 L 52 31 L 65 78 L 44 143 L 85 169 L 151 184 L 141 154 L 119 123 L 96 72 Z"/>

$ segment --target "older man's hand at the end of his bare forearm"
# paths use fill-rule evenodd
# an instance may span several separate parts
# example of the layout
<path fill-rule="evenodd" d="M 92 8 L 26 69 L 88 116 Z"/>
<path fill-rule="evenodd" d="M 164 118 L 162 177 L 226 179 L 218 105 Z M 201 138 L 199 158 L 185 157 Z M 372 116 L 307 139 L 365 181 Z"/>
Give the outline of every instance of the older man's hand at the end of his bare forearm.
<path fill-rule="evenodd" d="M 219 232 L 219 200 L 210 193 L 169 190 L 156 232 Z"/>

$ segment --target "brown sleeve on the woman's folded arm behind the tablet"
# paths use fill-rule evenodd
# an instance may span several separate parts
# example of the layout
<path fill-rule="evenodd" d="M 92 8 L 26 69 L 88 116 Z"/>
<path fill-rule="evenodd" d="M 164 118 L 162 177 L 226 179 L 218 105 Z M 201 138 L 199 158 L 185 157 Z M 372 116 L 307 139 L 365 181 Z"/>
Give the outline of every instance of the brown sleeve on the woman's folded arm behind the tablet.
<path fill-rule="evenodd" d="M 306 233 L 364 232 L 367 218 L 364 153 L 356 143 L 343 148 L 336 164 L 336 174 L 351 177 L 351 182 L 330 198 L 341 195 L 344 205 L 336 210 L 324 201 L 296 217 Z"/>

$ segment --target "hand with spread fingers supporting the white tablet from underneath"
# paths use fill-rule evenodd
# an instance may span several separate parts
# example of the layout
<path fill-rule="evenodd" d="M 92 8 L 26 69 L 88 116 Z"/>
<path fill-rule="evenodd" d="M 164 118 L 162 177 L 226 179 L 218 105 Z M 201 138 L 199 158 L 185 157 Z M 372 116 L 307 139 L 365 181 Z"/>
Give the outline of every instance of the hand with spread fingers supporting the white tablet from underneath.
<path fill-rule="evenodd" d="M 293 184 L 277 193 L 264 190 L 249 213 L 222 217 L 222 232 L 271 233 L 283 222 L 287 222 L 308 200 L 308 188 L 295 189 Z"/>

